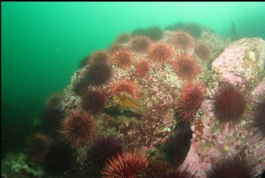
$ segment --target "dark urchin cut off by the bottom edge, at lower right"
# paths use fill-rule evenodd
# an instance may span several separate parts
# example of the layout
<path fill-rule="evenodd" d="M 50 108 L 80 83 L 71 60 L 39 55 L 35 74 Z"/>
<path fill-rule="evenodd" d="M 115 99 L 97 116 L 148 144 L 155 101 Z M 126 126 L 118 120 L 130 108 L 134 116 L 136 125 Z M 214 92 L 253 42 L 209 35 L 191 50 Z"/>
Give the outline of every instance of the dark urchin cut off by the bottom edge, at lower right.
<path fill-rule="evenodd" d="M 256 176 L 255 165 L 246 157 L 239 155 L 225 155 L 218 161 L 213 161 L 211 168 L 206 171 L 207 178 L 254 178 Z"/>

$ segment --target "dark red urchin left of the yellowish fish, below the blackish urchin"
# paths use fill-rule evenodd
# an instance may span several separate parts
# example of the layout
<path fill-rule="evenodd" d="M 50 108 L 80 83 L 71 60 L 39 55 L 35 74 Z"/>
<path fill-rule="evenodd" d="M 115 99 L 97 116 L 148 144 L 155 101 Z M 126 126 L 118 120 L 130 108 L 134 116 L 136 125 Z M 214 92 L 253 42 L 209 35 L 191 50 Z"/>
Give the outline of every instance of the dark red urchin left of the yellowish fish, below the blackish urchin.
<path fill-rule="evenodd" d="M 92 114 L 97 114 L 105 107 L 107 102 L 103 92 L 87 90 L 82 96 L 82 108 Z"/>

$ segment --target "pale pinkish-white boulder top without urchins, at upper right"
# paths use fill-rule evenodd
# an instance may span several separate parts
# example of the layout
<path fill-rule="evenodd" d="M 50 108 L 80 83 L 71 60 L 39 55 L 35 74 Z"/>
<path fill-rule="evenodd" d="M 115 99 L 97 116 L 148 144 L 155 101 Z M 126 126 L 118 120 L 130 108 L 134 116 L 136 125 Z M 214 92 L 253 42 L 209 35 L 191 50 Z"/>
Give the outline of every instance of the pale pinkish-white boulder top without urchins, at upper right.
<path fill-rule="evenodd" d="M 264 75 L 265 41 L 240 39 L 226 48 L 211 67 L 221 79 L 256 86 Z"/>

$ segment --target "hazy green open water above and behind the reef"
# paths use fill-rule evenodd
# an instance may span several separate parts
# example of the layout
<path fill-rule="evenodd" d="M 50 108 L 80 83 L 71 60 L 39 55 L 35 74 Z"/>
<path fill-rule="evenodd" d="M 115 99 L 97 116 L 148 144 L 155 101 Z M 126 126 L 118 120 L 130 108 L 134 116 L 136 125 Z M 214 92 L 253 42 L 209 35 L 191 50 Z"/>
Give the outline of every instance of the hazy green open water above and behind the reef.
<path fill-rule="evenodd" d="M 45 98 L 70 83 L 79 61 L 121 32 L 197 22 L 224 37 L 265 38 L 265 3 L 1 3 L 2 103 L 38 117 Z"/>

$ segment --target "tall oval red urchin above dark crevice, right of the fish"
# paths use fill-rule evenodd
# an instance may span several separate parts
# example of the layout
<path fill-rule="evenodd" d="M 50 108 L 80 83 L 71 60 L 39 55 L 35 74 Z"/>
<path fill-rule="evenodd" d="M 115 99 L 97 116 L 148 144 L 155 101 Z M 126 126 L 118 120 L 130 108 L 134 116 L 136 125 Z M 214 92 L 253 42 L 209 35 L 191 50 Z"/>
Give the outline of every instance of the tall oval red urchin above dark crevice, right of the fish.
<path fill-rule="evenodd" d="M 203 83 L 189 82 L 183 86 L 176 111 L 181 121 L 193 121 L 196 112 L 202 105 L 205 94 L 206 90 Z"/>

